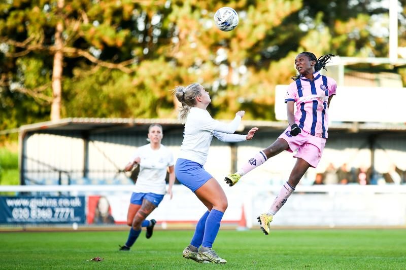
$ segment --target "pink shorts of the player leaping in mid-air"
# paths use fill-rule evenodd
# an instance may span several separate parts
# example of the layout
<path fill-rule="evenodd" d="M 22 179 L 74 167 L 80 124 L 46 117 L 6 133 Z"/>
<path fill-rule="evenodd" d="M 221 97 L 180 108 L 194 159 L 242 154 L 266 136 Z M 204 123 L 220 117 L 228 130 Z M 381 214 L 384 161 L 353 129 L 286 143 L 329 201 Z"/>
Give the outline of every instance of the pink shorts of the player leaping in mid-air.
<path fill-rule="evenodd" d="M 310 135 L 306 131 L 301 131 L 297 136 L 290 135 L 290 127 L 278 137 L 288 142 L 289 148 L 286 149 L 289 152 L 297 150 L 294 158 L 300 158 L 305 160 L 313 168 L 317 167 L 323 154 L 324 146 L 326 145 L 326 139 Z"/>

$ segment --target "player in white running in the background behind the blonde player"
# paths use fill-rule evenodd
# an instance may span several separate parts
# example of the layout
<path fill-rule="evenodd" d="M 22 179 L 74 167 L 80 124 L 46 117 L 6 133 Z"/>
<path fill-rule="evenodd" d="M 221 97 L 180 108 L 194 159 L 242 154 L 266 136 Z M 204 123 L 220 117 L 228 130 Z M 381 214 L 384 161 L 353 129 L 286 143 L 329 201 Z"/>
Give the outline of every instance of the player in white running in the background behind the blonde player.
<path fill-rule="evenodd" d="M 147 227 L 146 237 L 151 238 L 156 221 L 146 218 L 158 207 L 166 193 L 167 171 L 169 171 L 167 193 L 172 199 L 172 186 L 175 182 L 174 157 L 172 152 L 161 144 L 162 137 L 161 125 L 152 124 L 148 129 L 150 143 L 139 147 L 125 166 L 124 170 L 128 172 L 140 165 L 140 173 L 128 207 L 127 224 L 131 229 L 127 242 L 120 246 L 122 251 L 130 250 L 142 227 Z"/>

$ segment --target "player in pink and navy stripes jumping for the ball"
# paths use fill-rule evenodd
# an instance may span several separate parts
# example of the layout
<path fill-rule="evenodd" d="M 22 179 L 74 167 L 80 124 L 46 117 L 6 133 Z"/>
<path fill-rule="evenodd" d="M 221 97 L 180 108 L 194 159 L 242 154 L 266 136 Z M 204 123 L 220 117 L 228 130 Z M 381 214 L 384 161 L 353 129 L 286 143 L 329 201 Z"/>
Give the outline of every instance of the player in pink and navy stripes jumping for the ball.
<path fill-rule="evenodd" d="M 337 84 L 334 79 L 321 75 L 319 71 L 326 69 L 326 63 L 333 56 L 335 55 L 327 54 L 317 59 L 310 52 L 302 52 L 296 56 L 295 67 L 299 73 L 292 77 L 294 82 L 289 85 L 285 99 L 289 127 L 273 144 L 251 157 L 238 172 L 225 177 L 227 184 L 232 186 L 241 176 L 269 158 L 284 150 L 297 150 L 293 156 L 297 158 L 296 164 L 288 181 L 282 186 L 269 210 L 258 216 L 260 228 L 265 235 L 269 234 L 269 223 L 273 216 L 286 203 L 301 177 L 309 167 L 316 168 L 321 159 L 328 135 L 328 108 Z"/>

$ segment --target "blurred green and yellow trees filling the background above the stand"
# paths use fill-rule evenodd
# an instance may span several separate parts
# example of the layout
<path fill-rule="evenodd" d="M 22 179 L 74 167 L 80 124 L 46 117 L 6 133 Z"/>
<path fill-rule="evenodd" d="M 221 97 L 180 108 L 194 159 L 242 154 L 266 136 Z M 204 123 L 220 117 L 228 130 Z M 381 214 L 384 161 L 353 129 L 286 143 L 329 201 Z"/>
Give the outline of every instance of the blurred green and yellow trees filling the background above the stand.
<path fill-rule="evenodd" d="M 170 90 L 198 82 L 213 116 L 245 109 L 246 119 L 274 120 L 275 86 L 291 81 L 297 53 L 387 55 L 388 36 L 374 28 L 388 14 L 382 3 L 9 1 L 0 4 L 0 111 L 13 113 L 8 127 L 49 115 L 175 118 Z M 239 13 L 233 31 L 214 26 L 222 6 Z"/>

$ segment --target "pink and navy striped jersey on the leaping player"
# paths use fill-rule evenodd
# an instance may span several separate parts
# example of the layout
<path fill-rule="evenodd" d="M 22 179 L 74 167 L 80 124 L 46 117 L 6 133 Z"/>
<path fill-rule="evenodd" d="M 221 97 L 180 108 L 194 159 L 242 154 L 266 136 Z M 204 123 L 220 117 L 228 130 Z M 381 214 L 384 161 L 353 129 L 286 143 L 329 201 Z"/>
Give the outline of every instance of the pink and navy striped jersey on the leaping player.
<path fill-rule="evenodd" d="M 296 102 L 295 123 L 300 129 L 313 136 L 327 138 L 328 130 L 328 97 L 335 95 L 337 83 L 334 79 L 314 74 L 314 80 L 300 76 L 288 87 L 285 103 Z"/>

